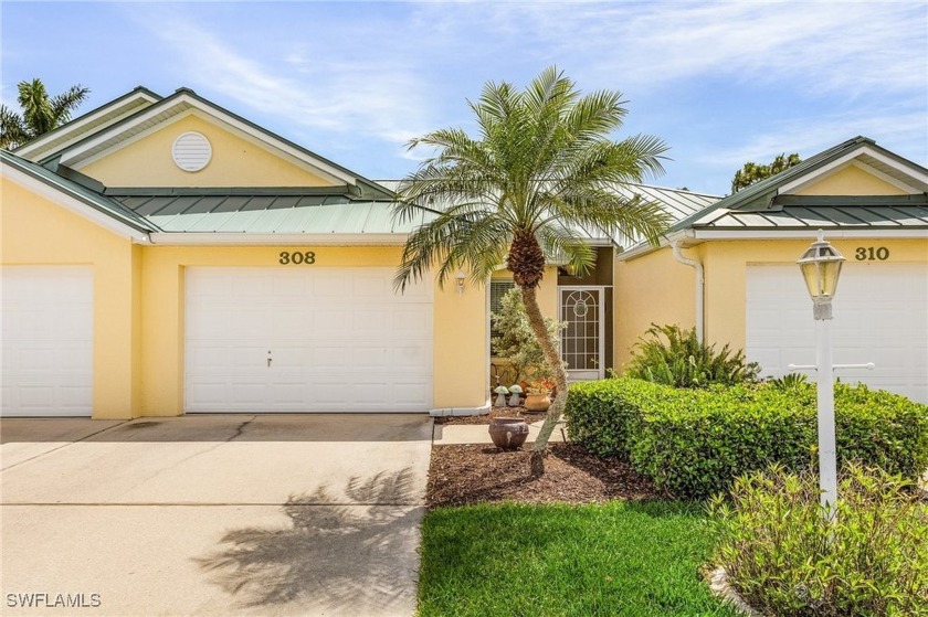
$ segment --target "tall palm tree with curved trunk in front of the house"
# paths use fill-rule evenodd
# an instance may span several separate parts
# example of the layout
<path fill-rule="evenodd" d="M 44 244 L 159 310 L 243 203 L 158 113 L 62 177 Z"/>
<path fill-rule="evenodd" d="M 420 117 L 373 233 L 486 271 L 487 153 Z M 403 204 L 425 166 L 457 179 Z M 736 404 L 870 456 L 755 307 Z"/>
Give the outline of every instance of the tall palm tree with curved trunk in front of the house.
<path fill-rule="evenodd" d="M 557 383 L 532 450 L 536 476 L 544 474 L 548 438 L 568 391 L 566 369 L 536 296 L 546 264 L 589 270 L 595 253 L 581 227 L 656 243 L 667 224 L 657 204 L 614 190 L 662 172 L 667 150 L 651 136 L 608 138 L 622 126 L 628 113 L 623 104 L 618 92 L 581 96 L 571 79 L 550 67 L 521 92 L 505 82 L 487 83 L 479 100 L 468 102 L 479 138 L 462 129 L 440 129 L 409 143 L 410 149 L 426 147 L 433 156 L 400 184 L 394 216 L 411 221 L 430 204 L 437 213 L 407 240 L 396 286 L 402 290 L 433 268 L 440 286 L 458 270 L 477 285 L 500 264 L 513 273 Z"/>

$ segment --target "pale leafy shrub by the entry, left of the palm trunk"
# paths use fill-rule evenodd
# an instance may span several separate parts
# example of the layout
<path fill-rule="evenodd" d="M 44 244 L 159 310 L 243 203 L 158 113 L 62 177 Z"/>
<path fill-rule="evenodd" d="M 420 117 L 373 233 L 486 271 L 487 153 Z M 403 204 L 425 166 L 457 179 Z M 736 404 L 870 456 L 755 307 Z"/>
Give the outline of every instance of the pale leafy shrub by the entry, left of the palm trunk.
<path fill-rule="evenodd" d="M 541 351 L 541 345 L 538 344 L 538 339 L 528 323 L 528 315 L 525 312 L 521 290 L 518 287 L 503 296 L 499 310 L 491 313 L 489 318 L 493 321 L 493 329 L 499 332 L 498 337 L 493 338 L 493 347 L 498 355 L 509 360 L 515 373 L 515 379 L 510 383 L 517 383 L 527 377 L 552 376 L 553 373 L 545 360 L 545 352 Z M 545 318 L 545 327 L 557 347 L 563 325 Z"/>

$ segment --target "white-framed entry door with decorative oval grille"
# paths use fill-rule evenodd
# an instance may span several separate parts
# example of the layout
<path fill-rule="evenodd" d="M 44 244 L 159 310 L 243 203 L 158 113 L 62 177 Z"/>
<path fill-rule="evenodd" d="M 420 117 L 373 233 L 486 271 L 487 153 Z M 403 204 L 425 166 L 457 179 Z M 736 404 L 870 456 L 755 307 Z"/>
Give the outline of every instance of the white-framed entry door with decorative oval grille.
<path fill-rule="evenodd" d="M 601 380 L 605 376 L 605 306 L 603 287 L 559 287 L 561 358 L 568 381 Z"/>

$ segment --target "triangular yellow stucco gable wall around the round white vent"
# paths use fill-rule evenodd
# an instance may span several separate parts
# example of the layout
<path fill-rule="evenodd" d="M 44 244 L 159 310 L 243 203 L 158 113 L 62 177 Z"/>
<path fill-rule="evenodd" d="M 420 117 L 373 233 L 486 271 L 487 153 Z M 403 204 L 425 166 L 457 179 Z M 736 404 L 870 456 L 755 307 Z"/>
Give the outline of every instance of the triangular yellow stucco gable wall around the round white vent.
<path fill-rule="evenodd" d="M 183 171 L 171 158 L 181 134 L 198 131 L 212 147 L 209 164 Z M 193 115 L 167 124 L 102 158 L 78 166 L 107 187 L 324 187 L 319 178 L 256 143 Z"/>

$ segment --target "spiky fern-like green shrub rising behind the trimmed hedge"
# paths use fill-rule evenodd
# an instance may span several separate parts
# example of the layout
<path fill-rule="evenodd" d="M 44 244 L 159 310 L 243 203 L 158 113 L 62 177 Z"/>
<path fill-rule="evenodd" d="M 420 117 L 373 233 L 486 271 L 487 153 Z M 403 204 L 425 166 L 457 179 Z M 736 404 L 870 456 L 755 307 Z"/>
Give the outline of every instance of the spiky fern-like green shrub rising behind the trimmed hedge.
<path fill-rule="evenodd" d="M 705 387 L 713 383 L 736 384 L 753 381 L 760 372 L 756 362 L 747 363 L 741 350 L 721 351 L 696 338 L 696 330 L 652 323 L 632 351 L 625 374 L 677 387 Z M 662 339 L 663 337 L 663 339 Z M 666 339 L 666 342 L 664 342 Z"/>

